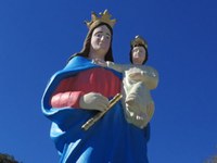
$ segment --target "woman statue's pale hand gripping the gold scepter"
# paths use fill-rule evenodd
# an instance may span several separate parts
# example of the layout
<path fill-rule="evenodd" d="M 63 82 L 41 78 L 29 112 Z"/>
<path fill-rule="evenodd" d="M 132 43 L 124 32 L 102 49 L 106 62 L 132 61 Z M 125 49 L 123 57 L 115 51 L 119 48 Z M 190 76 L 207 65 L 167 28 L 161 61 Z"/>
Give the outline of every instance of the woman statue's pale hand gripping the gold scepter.
<path fill-rule="evenodd" d="M 108 108 L 110 101 L 107 98 L 97 92 L 84 95 L 79 100 L 81 109 L 104 111 Z"/>

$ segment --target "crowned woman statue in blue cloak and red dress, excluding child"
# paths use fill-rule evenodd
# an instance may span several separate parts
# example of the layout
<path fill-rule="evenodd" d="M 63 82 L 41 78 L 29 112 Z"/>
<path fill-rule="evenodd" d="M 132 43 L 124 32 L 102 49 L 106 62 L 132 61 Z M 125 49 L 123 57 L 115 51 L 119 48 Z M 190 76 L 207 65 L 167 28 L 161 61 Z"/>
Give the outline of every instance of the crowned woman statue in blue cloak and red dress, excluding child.
<path fill-rule="evenodd" d="M 106 10 L 100 15 L 92 13 L 82 50 L 69 58 L 44 90 L 42 112 L 52 122 L 50 136 L 61 163 L 148 162 L 150 125 L 141 129 L 128 123 L 120 101 L 89 129 L 81 128 L 122 91 L 123 74 L 92 62 L 114 62 L 114 24 Z"/>

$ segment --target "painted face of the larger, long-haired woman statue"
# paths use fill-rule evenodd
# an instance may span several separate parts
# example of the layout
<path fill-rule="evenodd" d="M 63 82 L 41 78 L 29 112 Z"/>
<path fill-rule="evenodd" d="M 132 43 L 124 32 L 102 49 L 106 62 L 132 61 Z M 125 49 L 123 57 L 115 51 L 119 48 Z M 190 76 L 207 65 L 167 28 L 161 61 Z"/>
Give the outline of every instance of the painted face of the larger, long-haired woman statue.
<path fill-rule="evenodd" d="M 91 37 L 91 50 L 104 58 L 110 49 L 111 37 L 111 32 L 105 25 L 97 27 Z"/>

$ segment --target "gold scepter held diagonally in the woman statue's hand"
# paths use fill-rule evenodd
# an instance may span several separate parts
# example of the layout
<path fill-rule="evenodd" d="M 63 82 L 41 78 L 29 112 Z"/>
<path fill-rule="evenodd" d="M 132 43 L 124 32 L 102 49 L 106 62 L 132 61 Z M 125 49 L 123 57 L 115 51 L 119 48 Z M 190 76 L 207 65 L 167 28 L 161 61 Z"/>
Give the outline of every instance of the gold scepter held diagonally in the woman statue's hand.
<path fill-rule="evenodd" d="M 88 120 L 82 126 L 81 128 L 85 130 L 88 130 L 95 122 L 98 122 L 108 110 L 112 109 L 112 106 L 117 103 L 117 101 L 119 101 L 122 99 L 122 95 L 117 93 L 112 100 L 110 100 L 110 104 L 108 108 L 102 112 L 99 112 L 98 114 L 95 114 L 93 117 L 91 117 L 90 120 Z"/>

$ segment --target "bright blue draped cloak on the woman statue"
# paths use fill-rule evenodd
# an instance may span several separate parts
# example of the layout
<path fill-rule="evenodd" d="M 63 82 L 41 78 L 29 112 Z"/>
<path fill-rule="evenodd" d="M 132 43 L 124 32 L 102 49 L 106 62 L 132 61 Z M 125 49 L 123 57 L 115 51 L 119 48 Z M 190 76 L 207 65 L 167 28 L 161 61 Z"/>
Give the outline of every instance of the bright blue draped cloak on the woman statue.
<path fill-rule="evenodd" d="M 146 142 L 150 127 L 137 128 L 125 120 L 122 102 L 117 102 L 88 130 L 81 126 L 97 111 L 53 109 L 50 98 L 60 82 L 79 72 L 97 67 L 82 57 L 73 58 L 48 84 L 42 97 L 42 112 L 52 121 L 50 136 L 61 154 L 61 163 L 148 163 Z M 108 68 L 107 68 L 108 70 Z M 122 79 L 122 74 L 108 70 Z"/>

